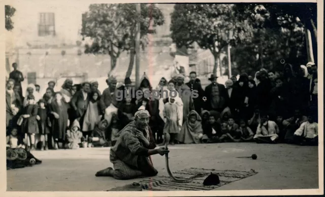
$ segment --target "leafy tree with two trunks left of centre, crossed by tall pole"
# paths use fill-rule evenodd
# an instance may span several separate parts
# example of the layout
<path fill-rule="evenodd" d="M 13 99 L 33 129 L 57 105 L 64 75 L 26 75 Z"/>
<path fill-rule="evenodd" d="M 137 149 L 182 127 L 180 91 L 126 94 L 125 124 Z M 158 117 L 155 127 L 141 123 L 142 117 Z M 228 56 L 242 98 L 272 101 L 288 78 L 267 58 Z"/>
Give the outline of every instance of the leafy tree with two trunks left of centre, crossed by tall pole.
<path fill-rule="evenodd" d="M 136 11 L 136 4 L 92 4 L 83 14 L 83 37 L 90 37 L 92 44 L 85 45 L 85 53 L 109 54 L 111 71 L 122 51 L 130 51 L 131 60 L 127 75 L 131 75 L 134 55 L 136 23 L 140 20 L 141 45 L 147 44 L 146 35 L 150 32 L 150 16 L 154 19 L 153 27 L 164 23 L 161 11 L 155 6 L 141 5 L 141 15 Z M 153 29 L 152 33 L 155 30 Z M 111 72 L 110 71 L 110 72 Z M 129 74 L 128 74 L 129 73 Z"/>

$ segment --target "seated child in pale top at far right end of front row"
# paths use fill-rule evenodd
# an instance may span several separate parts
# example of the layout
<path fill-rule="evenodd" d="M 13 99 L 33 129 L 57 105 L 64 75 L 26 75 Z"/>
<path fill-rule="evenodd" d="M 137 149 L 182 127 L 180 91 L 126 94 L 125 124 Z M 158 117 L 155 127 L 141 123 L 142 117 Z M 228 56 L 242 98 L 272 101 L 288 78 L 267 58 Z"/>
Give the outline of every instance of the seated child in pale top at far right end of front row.
<path fill-rule="evenodd" d="M 311 115 L 308 116 L 308 121 L 300 125 L 295 132 L 295 143 L 300 145 L 318 145 L 318 124 L 314 122 Z"/>

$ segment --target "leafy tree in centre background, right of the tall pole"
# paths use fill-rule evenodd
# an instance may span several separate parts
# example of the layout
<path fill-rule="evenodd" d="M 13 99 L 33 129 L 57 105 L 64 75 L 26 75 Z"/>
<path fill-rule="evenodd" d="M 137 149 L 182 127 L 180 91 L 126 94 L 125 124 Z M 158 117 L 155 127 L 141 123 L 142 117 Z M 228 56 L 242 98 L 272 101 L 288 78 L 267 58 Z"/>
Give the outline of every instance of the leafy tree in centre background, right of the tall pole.
<path fill-rule="evenodd" d="M 214 56 L 213 73 L 226 46 L 236 46 L 252 38 L 247 20 L 238 21 L 232 4 L 176 4 L 172 13 L 171 37 L 177 47 L 190 48 L 196 42 Z M 221 74 L 221 68 L 220 68 Z"/>

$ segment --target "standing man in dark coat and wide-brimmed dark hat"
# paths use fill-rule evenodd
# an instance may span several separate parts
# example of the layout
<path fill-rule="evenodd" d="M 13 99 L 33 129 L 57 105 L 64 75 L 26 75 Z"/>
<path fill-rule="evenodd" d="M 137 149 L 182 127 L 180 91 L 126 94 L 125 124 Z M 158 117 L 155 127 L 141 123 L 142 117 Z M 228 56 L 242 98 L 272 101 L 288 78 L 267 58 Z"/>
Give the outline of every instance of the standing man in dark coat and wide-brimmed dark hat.
<path fill-rule="evenodd" d="M 222 84 L 217 83 L 217 76 L 212 74 L 209 78 L 211 84 L 205 88 L 205 101 L 206 110 L 214 110 L 221 112 L 225 107 L 225 87 Z"/>

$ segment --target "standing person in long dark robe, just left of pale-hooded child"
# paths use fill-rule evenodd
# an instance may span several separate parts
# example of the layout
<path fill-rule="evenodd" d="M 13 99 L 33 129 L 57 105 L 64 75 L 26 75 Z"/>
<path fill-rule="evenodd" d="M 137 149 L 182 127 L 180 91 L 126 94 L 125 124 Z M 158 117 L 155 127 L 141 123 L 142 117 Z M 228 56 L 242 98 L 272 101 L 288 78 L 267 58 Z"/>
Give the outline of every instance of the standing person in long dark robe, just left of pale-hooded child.
<path fill-rule="evenodd" d="M 66 139 L 66 130 L 69 126 L 67 106 L 62 101 L 62 93 L 56 92 L 54 100 L 49 106 L 49 114 L 52 116 L 52 135 L 54 139 L 54 149 L 58 149 L 58 143 Z"/>

